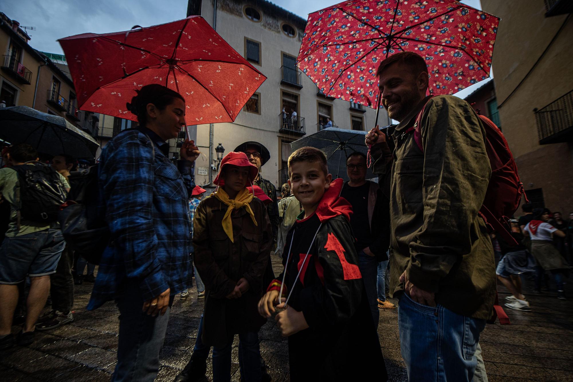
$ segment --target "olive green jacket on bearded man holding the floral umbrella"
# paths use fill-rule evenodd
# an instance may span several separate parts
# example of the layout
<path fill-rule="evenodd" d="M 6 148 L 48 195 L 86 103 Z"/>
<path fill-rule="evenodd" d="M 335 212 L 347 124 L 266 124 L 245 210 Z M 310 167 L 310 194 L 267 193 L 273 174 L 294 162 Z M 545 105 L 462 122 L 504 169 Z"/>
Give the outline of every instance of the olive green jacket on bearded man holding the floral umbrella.
<path fill-rule="evenodd" d="M 426 101 L 388 128 L 393 157 L 388 159 L 386 144 L 372 149 L 374 172 L 390 180 L 390 293 L 402 292 L 399 277 L 406 270 L 415 286 L 435 292 L 437 304 L 489 319 L 495 264 L 486 226 L 478 217 L 491 176 L 484 126 L 460 98 L 438 95 Z M 422 153 L 414 133 L 405 132 L 424 105 Z"/>

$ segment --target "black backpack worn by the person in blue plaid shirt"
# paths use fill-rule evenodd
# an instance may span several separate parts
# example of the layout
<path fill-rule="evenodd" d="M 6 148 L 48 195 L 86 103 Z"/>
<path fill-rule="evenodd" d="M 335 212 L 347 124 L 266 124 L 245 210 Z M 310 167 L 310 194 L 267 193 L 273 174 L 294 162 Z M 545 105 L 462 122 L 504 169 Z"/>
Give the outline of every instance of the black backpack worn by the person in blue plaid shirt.
<path fill-rule="evenodd" d="M 109 241 L 104 204 L 97 185 L 99 165 L 70 173 L 70 192 L 58 214 L 60 229 L 69 248 L 92 264 L 100 264 Z"/>

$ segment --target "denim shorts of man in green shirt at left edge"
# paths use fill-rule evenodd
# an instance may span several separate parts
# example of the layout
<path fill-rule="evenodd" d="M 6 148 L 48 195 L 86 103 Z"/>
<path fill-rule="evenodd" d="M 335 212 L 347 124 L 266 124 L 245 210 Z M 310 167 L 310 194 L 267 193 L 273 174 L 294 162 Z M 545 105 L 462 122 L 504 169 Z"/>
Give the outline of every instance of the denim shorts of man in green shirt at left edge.
<path fill-rule="evenodd" d="M 56 273 L 66 242 L 59 229 L 4 237 L 0 246 L 0 284 L 18 284 L 26 276 Z"/>

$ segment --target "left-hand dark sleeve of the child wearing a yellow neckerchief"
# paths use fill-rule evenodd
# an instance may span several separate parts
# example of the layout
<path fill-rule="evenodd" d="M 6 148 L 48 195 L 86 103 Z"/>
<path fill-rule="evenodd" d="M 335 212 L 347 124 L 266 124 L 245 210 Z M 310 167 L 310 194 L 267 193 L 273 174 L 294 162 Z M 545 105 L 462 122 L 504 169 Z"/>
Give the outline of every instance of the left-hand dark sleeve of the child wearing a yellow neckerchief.
<path fill-rule="evenodd" d="M 213 237 L 209 236 L 205 201 L 199 203 L 193 217 L 193 248 L 195 249 L 193 261 L 197 266 L 197 272 L 201 275 L 201 280 L 209 289 L 210 296 L 215 299 L 224 299 L 233 292 L 238 280 L 231 280 L 213 258 L 213 252 L 209 246 L 209 240 Z M 223 235 L 226 234 L 223 233 Z M 222 240 L 225 239 L 226 236 L 222 237 Z"/>

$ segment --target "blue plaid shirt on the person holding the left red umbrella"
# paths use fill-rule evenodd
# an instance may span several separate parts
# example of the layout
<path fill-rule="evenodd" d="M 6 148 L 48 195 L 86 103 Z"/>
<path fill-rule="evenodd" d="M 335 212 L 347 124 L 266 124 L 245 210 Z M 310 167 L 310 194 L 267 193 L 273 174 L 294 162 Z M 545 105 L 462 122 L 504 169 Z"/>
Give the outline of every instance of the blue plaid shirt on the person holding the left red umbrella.
<path fill-rule="evenodd" d="M 155 156 L 145 134 L 155 144 Z M 101 150 L 98 180 L 111 238 L 88 310 L 121 295 L 128 278 L 138 280 L 144 300 L 191 285 L 187 201 L 195 186 L 193 162 L 175 166 L 164 154 L 166 145 L 139 127 L 121 132 Z"/>

